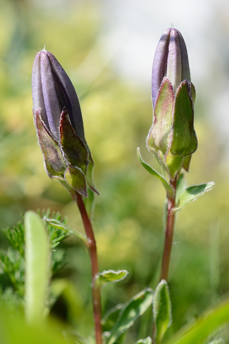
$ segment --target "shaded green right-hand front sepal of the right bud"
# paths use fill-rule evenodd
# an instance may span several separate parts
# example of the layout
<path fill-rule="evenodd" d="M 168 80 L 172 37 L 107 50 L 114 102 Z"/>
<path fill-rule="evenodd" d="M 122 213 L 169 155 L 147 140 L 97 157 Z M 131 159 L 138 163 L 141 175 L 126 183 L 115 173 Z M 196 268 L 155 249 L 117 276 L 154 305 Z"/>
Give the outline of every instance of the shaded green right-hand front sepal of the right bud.
<path fill-rule="evenodd" d="M 182 154 L 184 157 L 194 153 L 197 149 L 191 84 L 191 82 L 185 80 L 179 85 L 174 103 L 170 150 L 172 154 Z"/>

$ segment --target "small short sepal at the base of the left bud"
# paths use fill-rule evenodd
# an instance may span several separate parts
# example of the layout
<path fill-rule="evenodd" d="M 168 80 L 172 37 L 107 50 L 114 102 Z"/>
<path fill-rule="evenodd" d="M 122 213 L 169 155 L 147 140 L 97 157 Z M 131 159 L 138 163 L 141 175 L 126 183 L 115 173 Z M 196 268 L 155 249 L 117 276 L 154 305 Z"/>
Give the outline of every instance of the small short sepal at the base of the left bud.
<path fill-rule="evenodd" d="M 64 173 L 64 179 L 75 191 L 87 197 L 85 175 L 77 166 L 68 166 Z"/>

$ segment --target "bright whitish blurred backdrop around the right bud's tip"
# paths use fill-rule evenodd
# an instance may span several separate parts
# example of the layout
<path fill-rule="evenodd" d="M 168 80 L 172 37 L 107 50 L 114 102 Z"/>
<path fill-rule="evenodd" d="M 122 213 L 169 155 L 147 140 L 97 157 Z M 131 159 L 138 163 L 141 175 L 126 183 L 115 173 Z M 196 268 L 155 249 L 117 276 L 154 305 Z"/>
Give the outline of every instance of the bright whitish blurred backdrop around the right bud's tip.
<path fill-rule="evenodd" d="M 106 53 L 127 79 L 151 87 L 156 45 L 171 23 L 188 49 L 197 97 L 223 140 L 229 138 L 229 1 L 102 0 Z M 108 53 L 109 55 L 109 53 Z"/>

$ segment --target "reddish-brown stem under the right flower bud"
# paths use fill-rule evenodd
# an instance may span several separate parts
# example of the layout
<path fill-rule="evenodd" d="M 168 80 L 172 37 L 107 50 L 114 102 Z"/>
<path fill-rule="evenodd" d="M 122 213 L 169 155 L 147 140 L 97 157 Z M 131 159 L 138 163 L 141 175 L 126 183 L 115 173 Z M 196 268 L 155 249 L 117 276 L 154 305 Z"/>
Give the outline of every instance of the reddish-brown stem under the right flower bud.
<path fill-rule="evenodd" d="M 170 265 L 170 256 L 172 250 L 172 242 L 173 242 L 173 229 L 174 229 L 174 222 L 175 222 L 175 213 L 173 209 L 175 208 L 175 197 L 176 197 L 176 178 L 174 181 L 170 181 L 170 184 L 173 186 L 175 193 L 173 197 L 168 197 L 168 205 L 167 205 L 167 222 L 166 222 L 166 232 L 165 232 L 165 243 L 164 243 L 164 252 L 163 252 L 163 259 L 162 259 L 162 271 L 161 271 L 161 279 L 168 279 L 168 269 Z"/>

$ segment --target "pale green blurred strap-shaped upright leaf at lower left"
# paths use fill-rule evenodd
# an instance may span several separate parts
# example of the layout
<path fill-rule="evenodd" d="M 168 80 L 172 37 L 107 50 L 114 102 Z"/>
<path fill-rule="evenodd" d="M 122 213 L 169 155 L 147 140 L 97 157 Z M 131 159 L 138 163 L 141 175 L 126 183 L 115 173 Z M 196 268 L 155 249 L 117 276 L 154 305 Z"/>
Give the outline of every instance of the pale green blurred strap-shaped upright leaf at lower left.
<path fill-rule="evenodd" d="M 30 323 L 41 322 L 49 280 L 49 242 L 39 215 L 27 211 L 25 221 L 25 315 Z"/>

